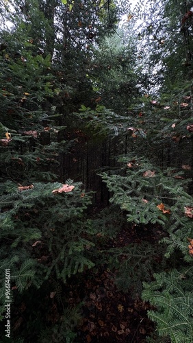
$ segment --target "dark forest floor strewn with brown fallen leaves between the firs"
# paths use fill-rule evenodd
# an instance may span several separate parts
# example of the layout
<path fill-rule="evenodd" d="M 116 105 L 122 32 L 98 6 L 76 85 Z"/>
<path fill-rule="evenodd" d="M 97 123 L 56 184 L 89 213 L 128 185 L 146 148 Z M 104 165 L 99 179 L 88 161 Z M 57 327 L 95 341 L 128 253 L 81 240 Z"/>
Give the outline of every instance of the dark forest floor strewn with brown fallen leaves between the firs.
<path fill-rule="evenodd" d="M 159 227 L 148 233 L 146 228 L 139 230 L 133 226 L 131 230 L 121 230 L 107 245 L 121 248 L 133 242 L 140 244 L 144 237 L 155 244 L 163 235 Z M 106 265 L 101 265 L 95 273 L 86 271 L 81 283 L 76 279 L 70 283 L 68 292 L 69 304 L 83 301 L 76 343 L 142 343 L 153 334 L 154 324 L 147 316 L 148 309 L 153 307 L 138 294 L 133 298 L 131 292 L 120 291 L 116 286 L 116 270 L 108 270 Z"/>

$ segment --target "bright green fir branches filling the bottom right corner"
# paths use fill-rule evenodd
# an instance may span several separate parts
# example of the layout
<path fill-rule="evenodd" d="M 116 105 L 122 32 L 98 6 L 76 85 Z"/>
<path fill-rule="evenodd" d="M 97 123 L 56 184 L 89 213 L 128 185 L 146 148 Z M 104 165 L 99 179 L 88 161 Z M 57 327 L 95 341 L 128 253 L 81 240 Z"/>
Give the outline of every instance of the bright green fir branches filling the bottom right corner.
<path fill-rule="evenodd" d="M 192 272 L 174 269 L 154 277 L 154 282 L 144 283 L 142 296 L 155 306 L 148 314 L 157 323 L 157 332 L 169 336 L 172 343 L 192 342 Z"/>

